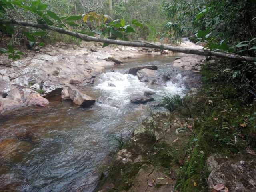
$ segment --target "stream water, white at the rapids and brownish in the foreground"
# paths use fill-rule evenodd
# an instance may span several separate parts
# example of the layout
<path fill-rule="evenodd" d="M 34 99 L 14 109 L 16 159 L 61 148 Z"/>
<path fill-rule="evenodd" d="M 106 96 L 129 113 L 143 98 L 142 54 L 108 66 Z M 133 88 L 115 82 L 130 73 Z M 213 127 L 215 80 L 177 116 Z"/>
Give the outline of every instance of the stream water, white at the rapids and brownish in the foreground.
<path fill-rule="evenodd" d="M 112 136 L 128 138 L 149 115 L 149 104 L 135 105 L 130 98 L 146 90 L 155 91 L 156 99 L 164 92 L 186 92 L 184 74 L 170 65 L 175 56 L 179 55 L 130 59 L 114 68 L 118 72 L 106 69 L 87 88 L 98 100 L 86 110 L 57 98 L 47 107 L 0 118 L 0 191 L 92 192 L 98 167 L 116 150 Z M 152 64 L 172 74 L 176 82 L 148 85 L 125 74 L 131 67 Z"/>

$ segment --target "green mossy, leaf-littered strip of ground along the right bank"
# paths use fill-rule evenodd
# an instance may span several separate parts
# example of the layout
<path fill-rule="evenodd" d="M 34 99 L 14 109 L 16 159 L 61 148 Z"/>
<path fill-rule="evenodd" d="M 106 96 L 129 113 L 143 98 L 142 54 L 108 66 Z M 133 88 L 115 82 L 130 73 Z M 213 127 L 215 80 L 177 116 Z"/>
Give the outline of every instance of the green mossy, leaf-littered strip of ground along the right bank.
<path fill-rule="evenodd" d="M 187 98 L 195 119 L 194 136 L 188 142 L 187 160 L 178 173 L 179 192 L 208 191 L 207 157 L 218 153 L 227 160 L 234 158 L 245 153 L 255 138 L 254 122 L 249 121 L 254 106 L 245 104 L 232 84 L 216 78 L 216 70 L 205 66 L 201 71 L 202 89 L 196 97 Z"/>

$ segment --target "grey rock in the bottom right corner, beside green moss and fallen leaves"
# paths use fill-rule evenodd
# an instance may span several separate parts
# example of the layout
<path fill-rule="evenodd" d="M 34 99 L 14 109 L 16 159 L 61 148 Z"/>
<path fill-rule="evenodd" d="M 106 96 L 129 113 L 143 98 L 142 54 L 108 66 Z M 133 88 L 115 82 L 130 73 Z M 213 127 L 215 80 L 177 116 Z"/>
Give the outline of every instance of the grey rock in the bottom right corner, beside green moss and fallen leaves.
<path fill-rule="evenodd" d="M 230 192 L 256 191 L 256 160 L 230 160 L 218 165 L 209 175 L 209 188 L 220 183 Z"/>

